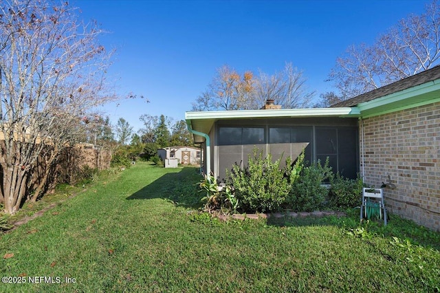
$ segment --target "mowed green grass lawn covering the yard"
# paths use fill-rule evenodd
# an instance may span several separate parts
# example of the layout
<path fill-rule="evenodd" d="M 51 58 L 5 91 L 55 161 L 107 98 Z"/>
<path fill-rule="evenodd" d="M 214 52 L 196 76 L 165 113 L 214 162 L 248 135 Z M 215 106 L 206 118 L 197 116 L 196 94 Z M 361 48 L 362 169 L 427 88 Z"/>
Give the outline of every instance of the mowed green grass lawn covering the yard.
<path fill-rule="evenodd" d="M 439 292 L 439 233 L 395 216 L 366 231 L 359 210 L 220 222 L 190 213 L 200 179 L 146 163 L 101 177 L 0 236 L 1 276 L 26 282 L 0 291 Z"/>

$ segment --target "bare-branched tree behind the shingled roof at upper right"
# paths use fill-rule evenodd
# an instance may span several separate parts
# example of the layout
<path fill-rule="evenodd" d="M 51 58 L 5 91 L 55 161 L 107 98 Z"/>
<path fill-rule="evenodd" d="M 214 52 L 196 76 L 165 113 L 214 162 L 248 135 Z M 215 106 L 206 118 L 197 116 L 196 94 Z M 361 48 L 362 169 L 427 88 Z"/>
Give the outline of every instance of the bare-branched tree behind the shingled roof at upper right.
<path fill-rule="evenodd" d="M 439 64 L 440 9 L 437 1 L 379 36 L 373 45 L 352 45 L 331 71 L 342 98 L 358 96 Z"/>

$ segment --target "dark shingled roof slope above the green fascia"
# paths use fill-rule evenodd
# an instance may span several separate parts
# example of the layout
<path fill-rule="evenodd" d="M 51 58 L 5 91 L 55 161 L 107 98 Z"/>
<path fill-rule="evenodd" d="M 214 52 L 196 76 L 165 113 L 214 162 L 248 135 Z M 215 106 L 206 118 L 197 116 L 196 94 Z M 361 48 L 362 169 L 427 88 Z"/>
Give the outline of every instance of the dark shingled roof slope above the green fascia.
<path fill-rule="evenodd" d="M 397 91 L 403 91 L 404 89 L 409 89 L 410 87 L 415 87 L 423 83 L 428 83 L 432 80 L 436 80 L 439 78 L 440 65 L 437 65 L 435 67 L 432 67 L 431 69 L 425 70 L 413 76 L 398 80 L 395 83 L 391 83 L 389 85 L 385 85 L 384 87 L 373 89 L 373 91 L 366 92 L 365 94 L 362 94 L 360 96 L 355 96 L 354 98 L 338 102 L 337 104 L 331 105 L 330 107 L 353 107 L 359 105 L 361 102 L 368 102 L 370 100 L 374 100 L 375 98 L 394 94 Z"/>

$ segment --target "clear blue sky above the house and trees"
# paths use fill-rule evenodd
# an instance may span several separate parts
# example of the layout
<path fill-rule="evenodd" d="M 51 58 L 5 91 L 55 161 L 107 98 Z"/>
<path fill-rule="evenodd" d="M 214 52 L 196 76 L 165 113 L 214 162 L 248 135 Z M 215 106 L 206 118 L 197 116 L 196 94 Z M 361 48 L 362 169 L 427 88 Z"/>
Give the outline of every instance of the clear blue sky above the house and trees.
<path fill-rule="evenodd" d="M 316 99 L 334 90 L 325 82 L 349 45 L 373 43 L 428 1 L 148 1 L 73 0 L 80 18 L 95 19 L 115 49 L 109 78 L 121 100 L 102 108 L 113 124 L 122 117 L 137 131 L 142 114 L 184 119 L 216 69 L 303 70 Z M 118 105 L 119 104 L 119 105 Z M 118 106 L 117 106 L 118 105 Z"/>

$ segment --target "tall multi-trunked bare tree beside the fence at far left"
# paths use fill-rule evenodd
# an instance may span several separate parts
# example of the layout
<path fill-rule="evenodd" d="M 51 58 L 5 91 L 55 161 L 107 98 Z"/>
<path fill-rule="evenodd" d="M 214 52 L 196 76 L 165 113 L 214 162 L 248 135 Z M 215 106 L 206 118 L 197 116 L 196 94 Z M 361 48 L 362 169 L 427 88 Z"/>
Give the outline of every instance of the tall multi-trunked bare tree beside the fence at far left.
<path fill-rule="evenodd" d="M 84 137 L 90 109 L 115 98 L 104 73 L 109 53 L 96 23 L 50 0 L 0 3 L 0 166 L 5 213 L 33 190 L 36 200 L 65 147 Z M 32 172 L 44 161 L 41 178 Z M 36 186 L 36 188 L 35 188 Z"/>

